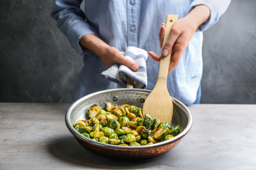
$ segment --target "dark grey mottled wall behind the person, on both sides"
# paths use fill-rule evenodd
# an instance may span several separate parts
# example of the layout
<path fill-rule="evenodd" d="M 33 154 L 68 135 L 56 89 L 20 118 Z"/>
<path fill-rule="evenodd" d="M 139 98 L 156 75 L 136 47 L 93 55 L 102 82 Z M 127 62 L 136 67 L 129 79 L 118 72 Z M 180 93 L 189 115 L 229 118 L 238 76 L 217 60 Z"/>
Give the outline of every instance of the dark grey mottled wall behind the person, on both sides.
<path fill-rule="evenodd" d="M 0 102 L 72 102 L 82 57 L 50 17 L 53 1 L 0 1 Z M 256 1 L 233 0 L 204 32 L 202 103 L 256 103 Z"/>

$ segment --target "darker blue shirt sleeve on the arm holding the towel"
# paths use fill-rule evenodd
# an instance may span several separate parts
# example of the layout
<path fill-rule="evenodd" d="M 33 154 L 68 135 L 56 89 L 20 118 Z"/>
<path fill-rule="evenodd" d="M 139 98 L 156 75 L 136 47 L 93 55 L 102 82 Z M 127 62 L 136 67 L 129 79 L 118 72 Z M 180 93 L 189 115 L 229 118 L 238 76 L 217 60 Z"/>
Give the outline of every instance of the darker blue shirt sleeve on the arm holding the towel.
<path fill-rule="evenodd" d="M 58 28 L 68 37 L 68 41 L 80 55 L 87 50 L 79 44 L 83 35 L 91 33 L 98 36 L 98 31 L 86 21 L 85 13 L 80 9 L 82 1 L 56 0 L 51 11 Z"/>

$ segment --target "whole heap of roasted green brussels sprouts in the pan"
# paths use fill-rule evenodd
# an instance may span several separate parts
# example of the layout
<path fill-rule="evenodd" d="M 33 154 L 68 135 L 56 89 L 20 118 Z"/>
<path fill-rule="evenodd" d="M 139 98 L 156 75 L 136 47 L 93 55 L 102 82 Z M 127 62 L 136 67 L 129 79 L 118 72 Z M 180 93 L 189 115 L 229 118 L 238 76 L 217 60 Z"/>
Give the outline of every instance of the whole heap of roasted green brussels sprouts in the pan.
<path fill-rule="evenodd" d="M 181 133 L 179 126 L 173 129 L 167 122 L 152 120 L 149 114 L 143 118 L 142 108 L 134 105 L 115 107 L 107 102 L 105 108 L 92 105 L 88 110 L 90 119 L 75 122 L 75 130 L 94 141 L 119 146 L 160 143 Z"/>

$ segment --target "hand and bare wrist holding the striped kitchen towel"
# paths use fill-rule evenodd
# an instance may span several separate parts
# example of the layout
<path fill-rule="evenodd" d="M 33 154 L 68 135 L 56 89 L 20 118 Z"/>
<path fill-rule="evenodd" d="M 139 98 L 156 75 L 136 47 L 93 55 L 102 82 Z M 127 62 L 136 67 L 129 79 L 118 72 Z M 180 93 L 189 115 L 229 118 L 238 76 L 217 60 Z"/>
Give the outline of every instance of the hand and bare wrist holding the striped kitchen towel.
<path fill-rule="evenodd" d="M 139 69 L 138 65 L 133 63 L 133 61 L 130 59 L 125 58 L 123 54 L 117 50 L 117 48 L 109 46 L 104 41 L 96 37 L 96 35 L 84 35 L 80 41 L 80 44 L 95 52 L 95 54 L 100 57 L 107 69 L 116 63 L 125 65 L 132 71 L 137 71 Z"/>

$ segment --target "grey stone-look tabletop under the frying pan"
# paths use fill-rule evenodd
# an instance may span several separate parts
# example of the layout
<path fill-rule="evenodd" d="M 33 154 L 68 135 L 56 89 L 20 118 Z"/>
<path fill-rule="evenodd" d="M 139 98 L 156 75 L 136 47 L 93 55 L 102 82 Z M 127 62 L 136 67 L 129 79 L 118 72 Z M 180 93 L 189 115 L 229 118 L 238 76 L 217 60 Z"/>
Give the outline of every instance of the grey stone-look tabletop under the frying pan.
<path fill-rule="evenodd" d="M 193 126 L 181 143 L 133 162 L 80 146 L 64 122 L 69 106 L 0 103 L 0 169 L 256 169 L 256 105 L 192 105 Z"/>

